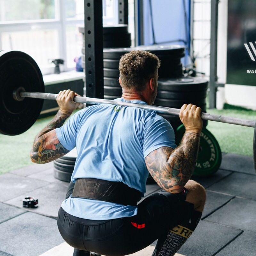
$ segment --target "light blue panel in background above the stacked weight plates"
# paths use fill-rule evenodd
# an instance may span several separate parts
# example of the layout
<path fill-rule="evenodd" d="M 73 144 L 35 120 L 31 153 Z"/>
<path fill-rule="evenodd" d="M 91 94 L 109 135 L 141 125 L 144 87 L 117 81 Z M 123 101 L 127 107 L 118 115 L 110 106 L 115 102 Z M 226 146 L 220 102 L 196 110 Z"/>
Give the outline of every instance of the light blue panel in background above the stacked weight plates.
<path fill-rule="evenodd" d="M 150 3 L 151 2 L 151 3 Z M 150 4 L 152 8 L 150 9 Z M 184 10 L 185 7 L 185 10 Z M 186 14 L 185 14 L 186 12 Z M 152 16 L 151 16 L 152 14 Z M 151 20 L 153 17 L 153 22 Z M 186 20 L 186 22 L 185 22 Z M 152 24 L 153 23 L 153 24 Z M 152 25 L 154 28 L 154 36 Z M 144 44 L 184 45 L 186 56 L 183 65 L 190 64 L 190 0 L 144 0 L 143 36 Z"/>

